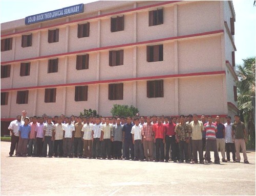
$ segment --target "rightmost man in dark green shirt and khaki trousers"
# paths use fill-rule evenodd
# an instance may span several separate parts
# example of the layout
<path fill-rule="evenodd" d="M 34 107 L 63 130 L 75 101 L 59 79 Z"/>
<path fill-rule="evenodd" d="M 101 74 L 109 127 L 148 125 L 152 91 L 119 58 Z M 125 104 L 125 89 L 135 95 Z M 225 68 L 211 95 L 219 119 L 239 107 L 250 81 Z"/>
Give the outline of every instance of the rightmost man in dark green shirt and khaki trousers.
<path fill-rule="evenodd" d="M 240 146 L 244 156 L 244 163 L 249 163 L 246 155 L 247 135 L 245 130 L 244 122 L 240 121 L 239 115 L 234 115 L 234 124 L 232 125 L 232 137 L 234 138 L 234 145 L 236 146 L 236 162 L 240 162 Z"/>

